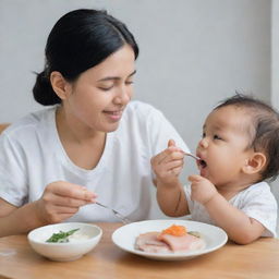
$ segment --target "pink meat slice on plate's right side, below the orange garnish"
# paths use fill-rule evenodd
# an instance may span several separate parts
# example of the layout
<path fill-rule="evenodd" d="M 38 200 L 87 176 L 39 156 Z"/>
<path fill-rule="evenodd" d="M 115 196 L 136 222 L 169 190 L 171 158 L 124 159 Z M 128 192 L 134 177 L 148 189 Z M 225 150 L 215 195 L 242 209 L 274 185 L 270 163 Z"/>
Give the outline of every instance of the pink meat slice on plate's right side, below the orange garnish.
<path fill-rule="evenodd" d="M 172 252 L 185 252 L 205 247 L 205 241 L 203 239 L 191 234 L 174 236 L 171 234 L 161 233 L 157 238 L 158 240 L 167 243 Z"/>

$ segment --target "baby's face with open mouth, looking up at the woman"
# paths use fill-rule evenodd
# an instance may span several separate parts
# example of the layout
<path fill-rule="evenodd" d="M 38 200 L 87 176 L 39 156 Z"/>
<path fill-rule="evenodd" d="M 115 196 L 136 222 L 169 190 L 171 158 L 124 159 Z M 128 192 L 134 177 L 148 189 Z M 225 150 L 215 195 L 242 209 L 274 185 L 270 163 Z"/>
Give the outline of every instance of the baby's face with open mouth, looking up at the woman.
<path fill-rule="evenodd" d="M 250 120 L 246 111 L 235 106 L 219 108 L 207 117 L 196 154 L 202 159 L 201 175 L 216 186 L 233 185 L 241 178 L 252 151 L 247 149 Z"/>

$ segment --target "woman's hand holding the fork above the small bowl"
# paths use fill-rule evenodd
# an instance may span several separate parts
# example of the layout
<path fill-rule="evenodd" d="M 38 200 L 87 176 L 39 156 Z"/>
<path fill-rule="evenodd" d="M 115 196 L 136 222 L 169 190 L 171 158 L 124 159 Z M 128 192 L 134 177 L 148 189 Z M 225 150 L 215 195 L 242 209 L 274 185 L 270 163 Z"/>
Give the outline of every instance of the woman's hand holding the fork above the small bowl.
<path fill-rule="evenodd" d="M 36 202 L 36 214 L 44 223 L 61 222 L 76 214 L 81 206 L 95 203 L 96 197 L 84 186 L 57 181 L 48 184 Z"/>

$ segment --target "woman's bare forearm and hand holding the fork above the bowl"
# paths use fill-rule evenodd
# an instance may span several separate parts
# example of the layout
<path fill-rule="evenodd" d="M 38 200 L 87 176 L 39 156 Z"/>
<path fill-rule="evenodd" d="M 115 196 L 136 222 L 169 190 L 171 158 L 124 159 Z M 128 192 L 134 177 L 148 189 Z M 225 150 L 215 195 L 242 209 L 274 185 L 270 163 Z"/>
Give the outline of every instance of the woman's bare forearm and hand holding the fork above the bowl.
<path fill-rule="evenodd" d="M 61 222 L 95 198 L 96 194 L 85 187 L 64 181 L 48 184 L 40 199 L 19 208 L 0 198 L 0 236 Z"/>

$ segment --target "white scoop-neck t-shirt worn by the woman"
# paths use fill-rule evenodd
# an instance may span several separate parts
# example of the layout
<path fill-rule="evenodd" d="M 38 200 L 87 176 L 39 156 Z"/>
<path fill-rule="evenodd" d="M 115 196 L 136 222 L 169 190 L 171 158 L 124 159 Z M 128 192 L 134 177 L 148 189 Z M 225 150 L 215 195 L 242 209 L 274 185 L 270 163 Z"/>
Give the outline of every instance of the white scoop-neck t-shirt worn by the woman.
<path fill-rule="evenodd" d="M 40 198 L 47 184 L 68 181 L 97 193 L 100 203 L 131 220 L 154 218 L 150 158 L 167 148 L 170 138 L 187 150 L 162 113 L 149 105 L 131 101 L 119 129 L 107 134 L 98 165 L 85 170 L 71 161 L 60 142 L 56 109 L 31 113 L 1 134 L 0 197 L 22 206 Z M 81 207 L 69 220 L 117 221 L 110 210 L 98 205 Z"/>

